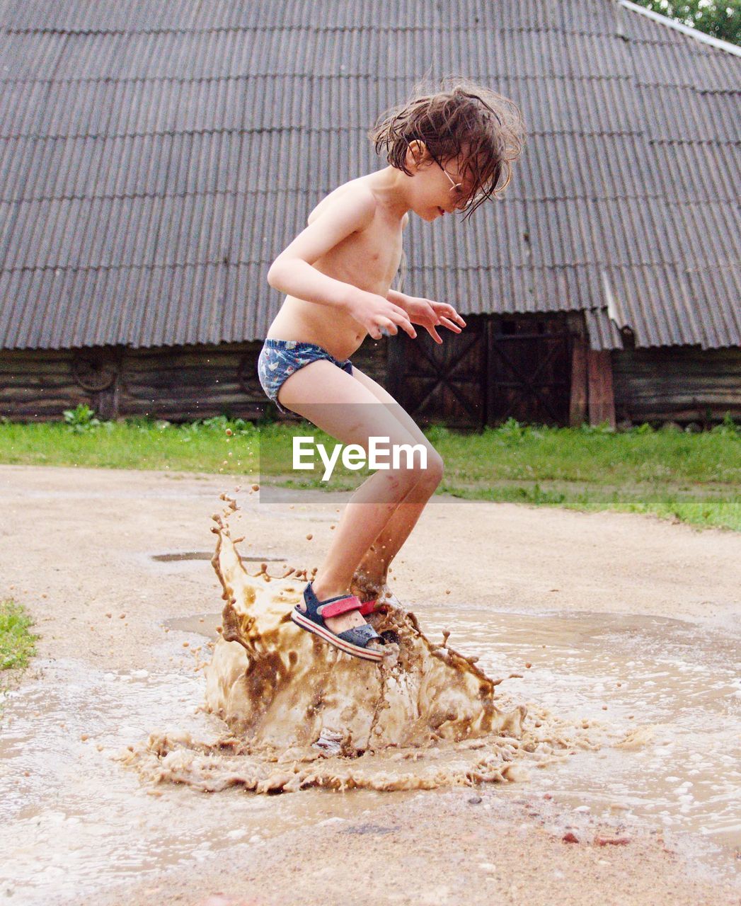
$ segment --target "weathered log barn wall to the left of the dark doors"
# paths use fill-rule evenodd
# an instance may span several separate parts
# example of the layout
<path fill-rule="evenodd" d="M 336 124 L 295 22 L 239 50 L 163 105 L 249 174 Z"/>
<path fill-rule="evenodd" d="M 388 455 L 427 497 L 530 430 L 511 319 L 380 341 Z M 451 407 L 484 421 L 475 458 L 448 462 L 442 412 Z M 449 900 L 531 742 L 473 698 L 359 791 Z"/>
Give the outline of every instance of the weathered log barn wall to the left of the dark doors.
<path fill-rule="evenodd" d="M 352 356 L 353 363 L 381 384 L 386 380 L 385 343 L 367 341 Z M 261 347 L 261 342 L 245 342 L 0 352 L 0 416 L 19 421 L 62 419 L 63 410 L 86 403 L 104 419 L 149 416 L 182 421 L 225 413 L 256 419 L 267 402 L 257 380 Z M 73 373 L 78 356 L 112 362 L 118 376 L 111 387 L 83 390 Z"/>

